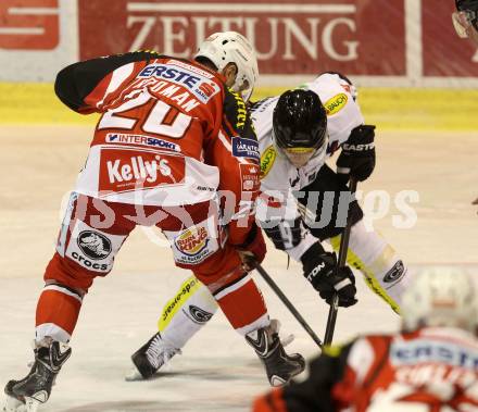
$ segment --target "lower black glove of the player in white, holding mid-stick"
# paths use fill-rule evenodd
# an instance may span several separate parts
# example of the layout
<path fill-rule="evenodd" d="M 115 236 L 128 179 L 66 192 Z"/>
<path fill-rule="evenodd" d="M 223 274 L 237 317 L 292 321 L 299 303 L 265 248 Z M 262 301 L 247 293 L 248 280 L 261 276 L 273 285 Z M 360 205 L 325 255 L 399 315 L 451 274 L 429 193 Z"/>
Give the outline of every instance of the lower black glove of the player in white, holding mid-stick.
<path fill-rule="evenodd" d="M 337 270 L 336 253 L 326 252 L 320 244 L 314 244 L 301 258 L 304 276 L 318 291 L 320 298 L 331 304 L 334 294 L 339 296 L 340 307 L 355 304 L 355 278 L 350 267 Z"/>

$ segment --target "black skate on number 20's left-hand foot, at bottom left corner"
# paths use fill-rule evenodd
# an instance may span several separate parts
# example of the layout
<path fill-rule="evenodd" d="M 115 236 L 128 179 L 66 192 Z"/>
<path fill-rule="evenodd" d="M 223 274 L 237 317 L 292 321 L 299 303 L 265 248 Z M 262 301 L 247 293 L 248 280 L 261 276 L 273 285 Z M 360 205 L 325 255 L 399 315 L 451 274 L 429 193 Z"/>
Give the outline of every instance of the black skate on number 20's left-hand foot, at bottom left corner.
<path fill-rule="evenodd" d="M 63 363 L 72 354 L 72 349 L 61 351 L 60 342 L 52 341 L 48 347 L 35 349 L 35 362 L 30 372 L 21 380 L 10 380 L 5 386 L 8 397 L 25 404 L 26 411 L 36 411 L 39 403 L 50 398 L 51 387 Z M 14 404 L 10 400 L 10 404 Z M 5 411 L 9 411 L 5 407 Z"/>

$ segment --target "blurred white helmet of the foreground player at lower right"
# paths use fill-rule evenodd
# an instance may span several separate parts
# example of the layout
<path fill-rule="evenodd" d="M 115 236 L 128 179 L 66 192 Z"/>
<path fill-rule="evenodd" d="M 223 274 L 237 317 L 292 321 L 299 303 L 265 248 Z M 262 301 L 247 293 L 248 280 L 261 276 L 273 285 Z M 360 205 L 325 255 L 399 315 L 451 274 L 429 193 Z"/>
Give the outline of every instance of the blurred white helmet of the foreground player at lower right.
<path fill-rule="evenodd" d="M 403 295 L 404 330 L 420 326 L 452 326 L 475 332 L 478 316 L 476 286 L 464 272 L 432 269 L 418 273 Z"/>

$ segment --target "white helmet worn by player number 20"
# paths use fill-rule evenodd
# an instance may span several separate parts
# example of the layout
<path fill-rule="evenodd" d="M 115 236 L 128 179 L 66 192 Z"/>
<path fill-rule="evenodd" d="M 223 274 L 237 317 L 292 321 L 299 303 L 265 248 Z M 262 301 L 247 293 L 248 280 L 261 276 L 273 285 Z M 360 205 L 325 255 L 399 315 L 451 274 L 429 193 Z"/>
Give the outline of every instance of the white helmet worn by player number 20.
<path fill-rule="evenodd" d="M 240 92 L 242 99 L 248 101 L 259 77 L 257 58 L 248 39 L 237 32 L 214 33 L 200 46 L 194 59 L 203 57 L 211 60 L 222 72 L 227 63 L 237 65 L 236 82 L 232 90 Z M 246 87 L 241 90 L 241 87 Z"/>

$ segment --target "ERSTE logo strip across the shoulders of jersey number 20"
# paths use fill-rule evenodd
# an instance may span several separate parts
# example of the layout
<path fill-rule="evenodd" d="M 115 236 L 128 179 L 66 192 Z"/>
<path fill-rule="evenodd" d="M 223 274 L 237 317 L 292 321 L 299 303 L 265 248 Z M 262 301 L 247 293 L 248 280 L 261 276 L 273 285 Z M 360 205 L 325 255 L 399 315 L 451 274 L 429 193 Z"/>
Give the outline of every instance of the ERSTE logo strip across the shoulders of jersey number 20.
<path fill-rule="evenodd" d="M 193 70 L 191 65 L 179 64 L 177 61 L 167 63 L 152 63 L 147 65 L 139 78 L 154 77 L 187 88 L 198 100 L 206 103 L 211 98 L 221 91 L 213 75 L 201 70 Z"/>

